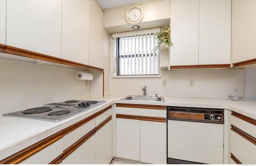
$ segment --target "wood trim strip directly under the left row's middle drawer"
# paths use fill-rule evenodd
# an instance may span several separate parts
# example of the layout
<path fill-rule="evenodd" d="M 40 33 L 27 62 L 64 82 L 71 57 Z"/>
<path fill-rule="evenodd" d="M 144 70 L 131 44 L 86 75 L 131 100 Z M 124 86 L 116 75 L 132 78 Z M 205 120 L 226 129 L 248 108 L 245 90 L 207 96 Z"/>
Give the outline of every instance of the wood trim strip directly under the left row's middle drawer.
<path fill-rule="evenodd" d="M 88 134 L 86 134 L 85 136 L 80 138 L 78 141 L 76 141 L 74 144 L 69 146 L 66 150 L 64 150 L 64 152 L 62 154 L 62 160 L 64 160 L 66 157 L 68 157 L 72 152 L 74 152 L 77 148 L 79 148 L 79 146 L 81 146 L 84 142 L 86 142 L 86 140 L 91 138 L 95 133 L 96 133 L 96 131 L 94 128 L 93 130 L 88 132 Z"/>

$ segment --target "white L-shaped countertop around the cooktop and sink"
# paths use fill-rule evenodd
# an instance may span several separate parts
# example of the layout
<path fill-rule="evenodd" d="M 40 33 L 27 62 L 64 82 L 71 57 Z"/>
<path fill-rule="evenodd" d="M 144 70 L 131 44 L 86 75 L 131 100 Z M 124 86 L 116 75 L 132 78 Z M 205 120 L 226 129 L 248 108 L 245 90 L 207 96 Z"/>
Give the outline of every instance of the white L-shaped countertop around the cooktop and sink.
<path fill-rule="evenodd" d="M 83 97 L 79 100 L 100 100 L 106 103 L 94 109 L 77 114 L 64 121 L 42 120 L 0 116 L 0 160 L 74 124 L 114 103 L 166 105 L 230 109 L 256 119 L 256 101 L 232 101 L 230 99 L 164 97 L 166 102 L 121 101 L 125 96 Z M 38 106 L 40 107 L 40 106 Z M 34 127 L 36 126 L 36 128 Z"/>

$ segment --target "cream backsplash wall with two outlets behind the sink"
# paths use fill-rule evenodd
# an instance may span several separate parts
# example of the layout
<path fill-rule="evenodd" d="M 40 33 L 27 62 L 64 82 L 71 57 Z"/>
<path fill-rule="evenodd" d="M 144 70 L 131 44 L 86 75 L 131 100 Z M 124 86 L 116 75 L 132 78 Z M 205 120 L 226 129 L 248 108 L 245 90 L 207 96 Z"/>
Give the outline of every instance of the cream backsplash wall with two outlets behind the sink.
<path fill-rule="evenodd" d="M 208 97 L 228 98 L 234 89 L 244 96 L 244 70 L 181 70 L 162 71 L 162 78 L 112 78 L 111 95 L 143 95 L 142 86 L 147 87 L 147 95 L 158 94 L 166 97 Z M 167 86 L 162 86 L 166 79 Z M 194 79 L 194 87 L 189 86 Z"/>

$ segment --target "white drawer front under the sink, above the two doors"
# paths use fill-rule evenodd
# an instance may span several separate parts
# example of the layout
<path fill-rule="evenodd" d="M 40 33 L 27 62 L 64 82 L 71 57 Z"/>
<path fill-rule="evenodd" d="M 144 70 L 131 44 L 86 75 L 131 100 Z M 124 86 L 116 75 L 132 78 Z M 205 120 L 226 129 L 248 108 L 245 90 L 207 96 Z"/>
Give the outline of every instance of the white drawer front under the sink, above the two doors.
<path fill-rule="evenodd" d="M 166 109 L 116 107 L 116 114 L 166 118 Z"/>

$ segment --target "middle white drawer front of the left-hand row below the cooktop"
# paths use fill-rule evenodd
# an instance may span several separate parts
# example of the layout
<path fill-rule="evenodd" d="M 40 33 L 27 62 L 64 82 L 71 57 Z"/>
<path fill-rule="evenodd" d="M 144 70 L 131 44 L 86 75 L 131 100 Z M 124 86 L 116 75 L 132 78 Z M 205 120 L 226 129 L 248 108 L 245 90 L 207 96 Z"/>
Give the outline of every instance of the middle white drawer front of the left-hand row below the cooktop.
<path fill-rule="evenodd" d="M 95 118 L 63 136 L 63 151 L 95 128 Z"/>

